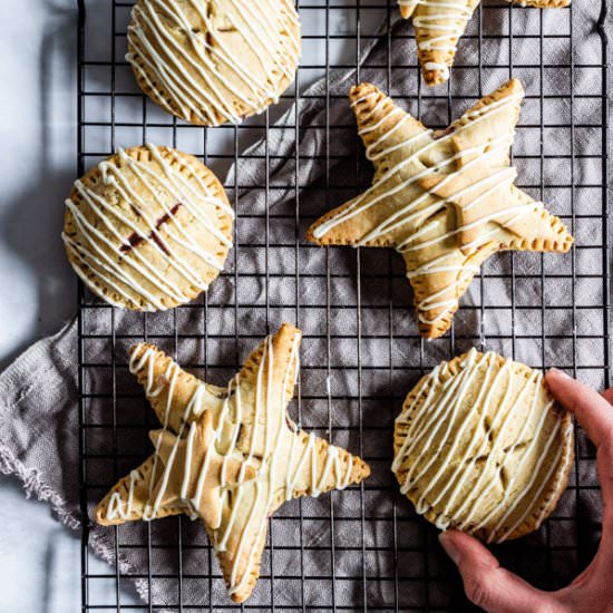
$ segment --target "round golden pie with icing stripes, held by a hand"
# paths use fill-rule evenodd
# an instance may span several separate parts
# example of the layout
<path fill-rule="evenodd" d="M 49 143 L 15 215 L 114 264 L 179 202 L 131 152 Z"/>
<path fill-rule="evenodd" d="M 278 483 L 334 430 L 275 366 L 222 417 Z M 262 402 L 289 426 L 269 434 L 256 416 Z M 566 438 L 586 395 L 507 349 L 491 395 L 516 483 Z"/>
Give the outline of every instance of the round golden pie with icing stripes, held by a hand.
<path fill-rule="evenodd" d="M 442 362 L 396 419 L 392 470 L 418 513 L 489 542 L 541 526 L 566 487 L 571 413 L 543 373 L 471 349 Z"/>

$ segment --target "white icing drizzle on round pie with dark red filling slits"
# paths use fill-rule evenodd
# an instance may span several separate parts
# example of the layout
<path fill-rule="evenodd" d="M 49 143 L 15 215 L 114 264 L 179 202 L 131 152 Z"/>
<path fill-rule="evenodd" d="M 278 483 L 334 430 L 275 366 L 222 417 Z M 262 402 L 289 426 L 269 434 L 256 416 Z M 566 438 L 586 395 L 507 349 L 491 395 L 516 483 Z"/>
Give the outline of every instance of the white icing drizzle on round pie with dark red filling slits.
<path fill-rule="evenodd" d="M 125 301 L 140 300 L 143 310 L 155 311 L 166 308 L 164 299 L 176 302 L 189 300 L 179 288 L 179 279 L 203 291 L 208 289 L 201 280 L 202 272 L 198 273 L 181 251 L 188 252 L 207 267 L 221 271 L 223 261 L 218 260 L 216 253 L 202 249 L 197 236 L 203 232 L 210 233 L 224 247 L 232 247 L 232 241 L 218 230 L 207 210 L 220 208 L 231 218 L 234 213 L 222 198 L 211 192 L 195 172 L 187 178 L 172 166 L 172 162 L 181 163 L 176 152 L 171 150 L 168 160 L 155 145 L 147 144 L 146 147 L 162 169 L 162 175 L 146 162 L 135 159 L 121 148 L 117 150 L 118 164 L 104 160 L 98 165 L 104 185 L 115 189 L 123 201 L 129 203 L 145 223 L 145 228 L 133 222 L 118 206 L 109 204 L 94 187 L 88 187 L 78 179 L 75 182 L 77 193 L 90 214 L 94 213 L 95 221 L 88 220 L 84 205 L 79 206 L 76 201 L 67 200 L 66 206 L 72 214 L 78 240 L 66 233 L 62 233 L 62 240 L 67 251 L 76 259 L 71 262 L 72 267 L 86 283 L 90 283 L 88 274 L 94 274 L 101 284 L 113 288 Z M 191 181 L 195 181 L 197 188 Z M 162 224 L 160 220 L 152 215 L 152 204 L 162 211 Z M 179 221 L 179 206 L 185 207 L 194 217 L 191 225 Z M 124 236 L 119 232 L 120 226 L 129 230 L 136 245 L 130 243 L 130 236 Z M 159 242 L 162 230 L 164 245 Z M 139 249 L 142 244 L 152 247 L 167 269 L 162 270 L 145 257 Z M 171 276 L 178 279 L 173 281 Z M 147 284 L 155 288 L 155 291 L 148 290 Z M 96 288 L 93 289 L 97 291 Z M 101 296 L 116 306 L 121 305 L 108 295 Z"/>

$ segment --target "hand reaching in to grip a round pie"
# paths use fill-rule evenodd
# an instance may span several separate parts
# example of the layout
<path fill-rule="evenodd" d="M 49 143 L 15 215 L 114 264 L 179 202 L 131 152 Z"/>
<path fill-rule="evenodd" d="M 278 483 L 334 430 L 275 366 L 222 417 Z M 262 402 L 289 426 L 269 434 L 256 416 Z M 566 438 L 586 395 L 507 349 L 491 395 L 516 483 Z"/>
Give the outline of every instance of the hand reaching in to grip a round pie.
<path fill-rule="evenodd" d="M 500 567 L 468 534 L 449 531 L 439 541 L 457 564 L 468 599 L 488 613 L 613 613 L 613 388 L 600 395 L 558 370 L 546 380 L 597 449 L 604 510 L 596 556 L 567 587 L 544 592 Z"/>

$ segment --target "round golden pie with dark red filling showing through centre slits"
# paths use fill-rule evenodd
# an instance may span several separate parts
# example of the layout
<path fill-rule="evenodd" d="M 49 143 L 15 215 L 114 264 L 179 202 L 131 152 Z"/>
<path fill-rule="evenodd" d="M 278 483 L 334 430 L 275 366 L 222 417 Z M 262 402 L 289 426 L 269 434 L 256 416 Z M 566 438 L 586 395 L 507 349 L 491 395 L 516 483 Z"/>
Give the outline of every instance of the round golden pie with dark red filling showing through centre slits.
<path fill-rule="evenodd" d="M 195 157 L 119 149 L 75 182 L 62 239 L 76 273 L 115 306 L 163 311 L 206 291 L 232 247 L 234 213 Z"/>

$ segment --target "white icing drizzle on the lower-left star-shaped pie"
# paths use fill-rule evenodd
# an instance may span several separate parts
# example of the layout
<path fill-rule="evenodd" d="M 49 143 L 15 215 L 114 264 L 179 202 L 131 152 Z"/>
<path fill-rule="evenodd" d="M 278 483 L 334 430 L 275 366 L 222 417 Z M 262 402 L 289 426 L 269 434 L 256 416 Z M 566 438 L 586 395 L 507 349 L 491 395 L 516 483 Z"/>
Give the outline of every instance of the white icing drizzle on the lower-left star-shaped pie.
<path fill-rule="evenodd" d="M 289 364 L 295 363 L 298 377 L 299 369 L 299 346 L 300 334 L 296 332 L 289 357 Z M 200 416 L 203 412 L 202 398 L 205 393 L 205 383 L 198 382 L 198 386 L 192 396 L 185 412 L 182 418 L 182 425 L 177 432 L 175 446 L 168 457 L 168 463 L 164 467 L 162 474 L 160 487 L 155 499 L 153 497 L 153 486 L 157 483 L 157 453 L 163 432 L 168 428 L 168 417 L 174 398 L 175 383 L 181 371 L 175 362 L 169 362 L 165 373 L 159 380 L 155 378 L 154 364 L 156 351 L 152 348 L 143 350 L 138 346 L 129 362 L 130 372 L 137 374 L 146 372 L 145 390 L 147 396 L 155 397 L 167 388 L 168 399 L 164 413 L 164 429 L 156 444 L 156 455 L 154 468 L 149 481 L 149 500 L 146 504 L 143 519 L 150 520 L 155 518 L 160 508 L 160 502 L 167 489 L 169 475 L 173 471 L 173 464 L 177 446 L 182 439 L 186 439 L 186 457 L 185 468 L 183 471 L 181 500 L 185 505 L 192 518 L 198 516 L 197 508 L 203 495 L 204 481 L 210 469 L 210 460 L 212 453 L 216 453 L 223 457 L 221 470 L 220 486 L 220 512 L 227 504 L 227 497 L 232 493 L 233 502 L 230 516 L 222 523 L 222 517 L 218 517 L 217 525 L 220 528 L 213 531 L 212 545 L 215 552 L 226 549 L 227 541 L 233 532 L 239 516 L 244 515 L 244 525 L 241 527 L 241 536 L 239 538 L 237 551 L 234 556 L 234 565 L 232 567 L 230 580 L 230 594 L 241 591 L 246 582 L 251 580 L 251 567 L 254 563 L 254 556 L 257 551 L 256 544 L 263 538 L 264 531 L 267 526 L 267 517 L 276 508 L 280 500 L 289 500 L 295 493 L 298 481 L 305 483 L 306 490 L 312 496 L 319 496 L 327 485 L 330 483 L 330 477 L 333 475 L 334 487 L 337 489 L 346 488 L 351 481 L 353 470 L 353 456 L 348 455 L 347 465 L 343 466 L 339 451 L 340 449 L 333 445 L 328 447 L 325 458 L 318 461 L 319 454 L 317 450 L 317 439 L 310 434 L 306 445 L 300 444 L 300 435 L 298 427 L 286 421 L 285 412 L 285 390 L 289 387 L 290 372 L 292 368 L 285 369 L 284 380 L 279 386 L 274 381 L 275 356 L 273 350 L 273 337 L 267 337 L 264 341 L 263 354 L 260 360 L 255 377 L 254 389 L 254 412 L 250 422 L 252 424 L 251 439 L 249 451 L 241 454 L 236 449 L 241 424 L 244 420 L 245 406 L 241 395 L 241 376 L 236 374 L 228 383 L 227 393 L 223 400 L 220 400 L 220 409 L 217 415 L 213 416 L 213 422 L 216 424 L 212 442 L 207 448 L 204 461 L 198 474 L 195 492 L 189 492 L 188 484 L 191 479 L 193 454 L 197 453 L 194 445 L 196 432 L 196 421 L 191 419 L 192 416 Z M 279 395 L 275 397 L 275 395 Z M 211 410 L 211 409 L 206 409 Z M 227 436 L 230 429 L 230 445 L 222 448 L 222 432 Z M 185 430 L 187 434 L 185 435 Z M 185 436 L 184 436 L 185 435 Z M 263 448 L 261 447 L 263 442 Z M 300 449 L 300 451 L 299 451 Z M 226 463 L 232 459 L 242 461 L 236 483 L 228 484 L 226 480 Z M 323 467 L 321 463 L 323 461 Z M 247 467 L 255 469 L 255 476 L 249 476 Z M 304 471 L 309 477 L 305 478 Z M 318 473 L 320 473 L 318 479 Z M 127 519 L 133 510 L 133 492 L 136 481 L 142 477 L 137 471 L 130 473 L 129 495 L 124 505 L 119 493 L 114 493 L 107 509 L 106 518 L 114 520 L 117 518 Z M 249 512 L 245 513 L 245 497 L 251 495 Z M 125 508 L 124 508 L 125 506 Z M 251 535 L 255 535 L 253 538 Z M 246 564 L 242 564 L 246 554 Z"/>

